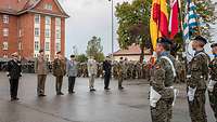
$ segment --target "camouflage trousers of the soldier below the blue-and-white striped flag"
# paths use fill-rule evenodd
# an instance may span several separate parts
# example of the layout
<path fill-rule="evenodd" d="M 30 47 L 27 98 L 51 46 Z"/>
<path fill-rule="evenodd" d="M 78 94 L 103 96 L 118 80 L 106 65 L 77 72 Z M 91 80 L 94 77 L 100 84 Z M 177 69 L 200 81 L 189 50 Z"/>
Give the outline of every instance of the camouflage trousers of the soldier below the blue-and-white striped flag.
<path fill-rule="evenodd" d="M 205 91 L 196 91 L 193 101 L 189 101 L 189 112 L 192 122 L 207 122 L 205 101 Z"/>

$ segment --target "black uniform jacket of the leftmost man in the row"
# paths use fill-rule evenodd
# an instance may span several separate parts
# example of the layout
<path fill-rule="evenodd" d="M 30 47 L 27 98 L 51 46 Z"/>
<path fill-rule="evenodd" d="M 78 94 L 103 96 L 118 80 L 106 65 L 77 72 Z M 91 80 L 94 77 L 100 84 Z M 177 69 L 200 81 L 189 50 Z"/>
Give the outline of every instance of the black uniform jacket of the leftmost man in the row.
<path fill-rule="evenodd" d="M 14 59 L 10 60 L 8 63 L 8 77 L 10 79 L 18 79 L 22 77 L 22 69 L 21 69 L 21 63 L 15 62 Z"/>

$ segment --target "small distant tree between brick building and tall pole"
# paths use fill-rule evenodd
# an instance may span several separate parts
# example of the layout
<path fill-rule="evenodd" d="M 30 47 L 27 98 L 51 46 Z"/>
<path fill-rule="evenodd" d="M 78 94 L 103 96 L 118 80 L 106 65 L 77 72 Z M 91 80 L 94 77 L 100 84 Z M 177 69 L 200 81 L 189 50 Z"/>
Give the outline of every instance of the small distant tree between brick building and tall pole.
<path fill-rule="evenodd" d="M 101 45 L 101 38 L 93 36 L 87 45 L 87 56 L 93 56 L 95 60 L 102 62 L 104 59 L 104 54 L 102 51 L 103 46 Z"/>

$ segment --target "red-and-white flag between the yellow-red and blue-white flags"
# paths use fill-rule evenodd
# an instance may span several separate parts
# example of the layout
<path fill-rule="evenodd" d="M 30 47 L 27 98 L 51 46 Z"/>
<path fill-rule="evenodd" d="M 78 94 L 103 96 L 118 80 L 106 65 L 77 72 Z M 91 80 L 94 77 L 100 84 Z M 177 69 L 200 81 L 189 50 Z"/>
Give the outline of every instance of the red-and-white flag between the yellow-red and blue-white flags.
<path fill-rule="evenodd" d="M 170 1 L 170 19 L 169 19 L 169 31 L 170 31 L 170 39 L 174 39 L 174 37 L 179 31 L 179 6 L 178 6 L 178 0 Z"/>

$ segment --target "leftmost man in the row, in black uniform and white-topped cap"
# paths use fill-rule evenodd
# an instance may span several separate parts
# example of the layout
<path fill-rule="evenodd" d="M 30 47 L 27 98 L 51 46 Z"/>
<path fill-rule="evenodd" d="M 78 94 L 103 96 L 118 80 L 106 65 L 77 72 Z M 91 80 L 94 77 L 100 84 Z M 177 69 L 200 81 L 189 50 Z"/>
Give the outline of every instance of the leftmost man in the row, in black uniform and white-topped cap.
<path fill-rule="evenodd" d="M 22 77 L 21 63 L 18 62 L 18 54 L 13 53 L 12 59 L 8 63 L 8 77 L 10 80 L 10 92 L 11 100 L 18 100 L 17 91 L 18 91 L 18 80 Z"/>

